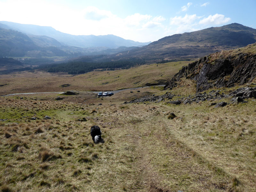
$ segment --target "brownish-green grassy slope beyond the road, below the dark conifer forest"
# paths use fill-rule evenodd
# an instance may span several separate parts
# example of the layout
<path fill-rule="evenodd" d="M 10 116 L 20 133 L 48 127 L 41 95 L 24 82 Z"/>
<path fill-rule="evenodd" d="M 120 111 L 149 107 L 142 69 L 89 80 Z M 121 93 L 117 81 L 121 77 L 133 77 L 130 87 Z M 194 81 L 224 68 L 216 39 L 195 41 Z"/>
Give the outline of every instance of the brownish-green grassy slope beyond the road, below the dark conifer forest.
<path fill-rule="evenodd" d="M 151 64 L 115 71 L 93 71 L 83 75 L 25 71 L 0 76 L 0 95 L 25 92 L 111 91 L 164 84 L 191 61 Z M 61 87 L 63 84 L 69 86 Z"/>

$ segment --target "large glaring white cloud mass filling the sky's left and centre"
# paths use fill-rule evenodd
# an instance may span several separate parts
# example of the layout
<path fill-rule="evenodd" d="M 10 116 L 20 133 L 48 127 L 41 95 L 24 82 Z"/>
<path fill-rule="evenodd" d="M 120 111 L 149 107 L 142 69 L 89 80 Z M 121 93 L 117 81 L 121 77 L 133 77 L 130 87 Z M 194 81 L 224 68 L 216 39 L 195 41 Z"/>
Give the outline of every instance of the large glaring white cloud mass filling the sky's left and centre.
<path fill-rule="evenodd" d="M 113 34 L 140 42 L 155 41 L 175 33 L 200 30 L 205 28 L 206 24 L 214 26 L 230 20 L 219 14 L 209 17 L 186 14 L 166 20 L 161 15 L 135 13 L 121 18 L 97 6 L 74 8 L 57 2 L 57 0 L 0 0 L 0 20 L 51 26 L 72 35 Z M 191 5 L 192 3 L 188 3 L 184 11 Z"/>

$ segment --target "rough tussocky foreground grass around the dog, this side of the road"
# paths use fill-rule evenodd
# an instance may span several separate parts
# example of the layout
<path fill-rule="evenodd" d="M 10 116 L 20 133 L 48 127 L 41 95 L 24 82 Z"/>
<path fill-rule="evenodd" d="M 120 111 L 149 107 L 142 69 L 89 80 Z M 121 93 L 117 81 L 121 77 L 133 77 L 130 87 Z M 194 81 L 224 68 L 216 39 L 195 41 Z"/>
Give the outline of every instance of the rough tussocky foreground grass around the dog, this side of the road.
<path fill-rule="evenodd" d="M 138 68 L 130 74 L 137 74 L 135 70 L 142 74 Z M 117 72 L 94 72 L 91 78 L 102 78 L 96 75 L 100 73 L 118 76 Z M 82 76 L 87 74 L 75 77 Z M 209 106 L 213 101 L 122 104 L 165 92 L 151 87 L 104 98 L 86 93 L 0 97 L 0 118 L 7 119 L 0 123 L 0 188 L 21 192 L 255 191 L 256 101 L 223 108 Z M 186 96 L 195 93 L 195 86 L 184 80 L 167 92 Z M 65 98 L 55 100 L 58 96 Z M 172 112 L 174 119 L 168 118 Z M 52 119 L 44 120 L 46 115 Z M 86 121 L 78 121 L 83 117 Z M 100 126 L 104 143 L 93 143 L 92 125 Z"/>

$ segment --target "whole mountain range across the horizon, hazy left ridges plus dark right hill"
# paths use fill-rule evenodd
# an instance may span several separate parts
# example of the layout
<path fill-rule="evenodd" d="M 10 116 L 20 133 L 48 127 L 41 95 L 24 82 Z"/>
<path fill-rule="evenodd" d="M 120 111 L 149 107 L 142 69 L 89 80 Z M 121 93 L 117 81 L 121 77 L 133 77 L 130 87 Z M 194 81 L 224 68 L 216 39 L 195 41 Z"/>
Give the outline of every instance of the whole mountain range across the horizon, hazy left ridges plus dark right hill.
<path fill-rule="evenodd" d="M 114 66 L 121 64 L 124 67 L 126 61 L 129 61 L 131 66 L 136 62 L 147 64 L 171 60 L 196 60 L 214 52 L 243 47 L 255 42 L 256 29 L 238 23 L 166 36 L 138 47 L 143 43 L 113 35 L 74 36 L 61 33 L 52 27 L 0 21 L 0 57 L 37 58 L 22 60 L 25 65 L 53 63 L 57 60 L 55 56 L 61 57 L 57 60 L 59 63 L 71 59 L 69 61 L 72 63 L 79 62 L 79 66 L 81 63 L 87 65 L 88 62 L 115 62 Z M 84 47 L 71 46 L 78 43 L 82 43 Z M 73 64 L 70 67 L 72 66 Z"/>

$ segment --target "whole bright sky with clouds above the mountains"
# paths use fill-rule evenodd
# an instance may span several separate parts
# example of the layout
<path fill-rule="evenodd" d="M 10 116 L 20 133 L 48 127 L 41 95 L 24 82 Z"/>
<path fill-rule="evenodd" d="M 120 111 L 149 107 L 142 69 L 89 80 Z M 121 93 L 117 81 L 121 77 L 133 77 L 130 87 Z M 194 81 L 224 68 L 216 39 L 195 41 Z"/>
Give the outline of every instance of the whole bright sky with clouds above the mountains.
<path fill-rule="evenodd" d="M 0 21 L 153 42 L 230 23 L 256 28 L 255 8 L 256 0 L 0 0 Z"/>

